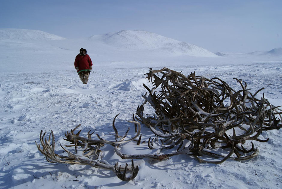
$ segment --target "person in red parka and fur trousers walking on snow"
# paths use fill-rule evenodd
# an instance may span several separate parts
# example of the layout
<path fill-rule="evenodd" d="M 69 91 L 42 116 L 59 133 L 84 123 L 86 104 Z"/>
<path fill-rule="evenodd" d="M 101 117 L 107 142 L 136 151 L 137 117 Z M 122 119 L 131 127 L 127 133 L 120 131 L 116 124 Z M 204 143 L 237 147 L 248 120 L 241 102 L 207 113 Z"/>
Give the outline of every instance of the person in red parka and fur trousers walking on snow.
<path fill-rule="evenodd" d="M 90 71 L 92 70 L 92 61 L 87 54 L 86 49 L 79 49 L 79 54 L 76 55 L 74 67 L 77 70 L 80 80 L 83 84 L 87 84 Z"/>

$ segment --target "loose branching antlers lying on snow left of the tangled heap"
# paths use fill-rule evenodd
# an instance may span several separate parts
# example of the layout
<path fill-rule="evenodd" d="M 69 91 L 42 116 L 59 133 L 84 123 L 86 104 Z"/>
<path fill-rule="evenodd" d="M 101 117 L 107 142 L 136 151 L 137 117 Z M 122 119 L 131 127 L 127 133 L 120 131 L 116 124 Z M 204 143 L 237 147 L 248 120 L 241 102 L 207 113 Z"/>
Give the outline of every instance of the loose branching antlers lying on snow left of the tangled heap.
<path fill-rule="evenodd" d="M 116 117 L 115 117 L 116 119 Z M 113 128 L 115 128 L 114 126 L 114 122 L 115 119 L 113 121 Z M 44 142 L 44 137 L 45 134 L 42 134 L 43 131 L 41 130 L 40 133 L 40 142 L 42 145 L 42 149 L 40 144 L 36 143 L 36 146 L 38 148 L 38 150 L 45 155 L 46 160 L 51 162 L 51 163 L 64 163 L 64 164 L 83 164 L 83 165 L 90 165 L 92 167 L 98 167 L 101 169 L 106 169 L 106 170 L 112 170 L 114 173 L 116 173 L 116 175 L 119 177 L 119 179 L 123 180 L 123 181 L 129 181 L 134 179 L 137 176 L 138 173 L 138 166 L 134 167 L 133 164 L 133 160 L 132 160 L 132 166 L 131 168 L 128 168 L 128 164 L 126 164 L 125 166 L 119 166 L 119 169 L 117 170 L 116 167 L 118 164 L 116 165 L 111 165 L 109 164 L 107 161 L 102 160 L 101 159 L 101 147 L 104 146 L 105 144 L 110 144 L 112 146 L 118 147 L 120 144 L 125 144 L 128 143 L 132 140 L 134 140 L 135 138 L 138 137 L 138 135 L 140 134 L 141 131 L 141 126 L 140 123 L 138 122 L 132 122 L 134 124 L 138 125 L 138 132 L 136 134 L 136 136 L 132 137 L 131 139 L 128 140 L 124 140 L 125 137 L 127 136 L 128 132 L 125 134 L 124 137 L 122 137 L 122 139 L 120 141 L 107 141 L 102 139 L 100 136 L 98 136 L 98 138 L 100 140 L 92 140 L 91 139 L 91 135 L 93 133 L 90 134 L 90 131 L 88 132 L 88 137 L 80 137 L 79 134 L 81 132 L 78 131 L 77 134 L 74 134 L 74 131 L 80 126 L 80 124 L 78 126 L 76 126 L 73 130 L 69 132 L 67 132 L 67 134 L 65 134 L 66 139 L 71 143 L 71 145 L 65 145 L 66 147 L 75 147 L 75 153 L 70 152 L 69 150 L 65 149 L 62 145 L 61 148 L 67 152 L 68 156 L 62 156 L 62 155 L 58 155 L 55 153 L 55 137 L 53 134 L 53 131 L 51 131 L 51 134 L 49 135 L 49 139 L 47 140 L 45 138 L 45 142 Z M 116 136 L 118 136 L 117 134 L 117 130 L 114 129 L 116 132 Z M 50 144 L 50 138 L 52 135 L 52 143 Z M 80 149 L 79 149 L 80 148 Z M 126 177 L 125 174 L 128 170 L 131 170 L 131 176 L 130 177 Z M 123 171 L 124 173 L 121 173 L 121 171 Z"/>

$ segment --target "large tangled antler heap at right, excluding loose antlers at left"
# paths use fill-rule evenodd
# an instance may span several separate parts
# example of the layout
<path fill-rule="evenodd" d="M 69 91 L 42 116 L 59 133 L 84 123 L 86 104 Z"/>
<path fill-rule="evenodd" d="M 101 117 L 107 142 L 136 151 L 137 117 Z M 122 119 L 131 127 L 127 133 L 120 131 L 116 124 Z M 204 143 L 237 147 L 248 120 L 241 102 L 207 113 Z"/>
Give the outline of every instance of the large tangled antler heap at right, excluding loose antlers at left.
<path fill-rule="evenodd" d="M 176 154 L 193 155 L 199 162 L 214 164 L 228 158 L 247 160 L 258 155 L 259 150 L 254 148 L 253 143 L 251 149 L 246 149 L 242 145 L 246 140 L 267 142 L 268 139 L 258 139 L 262 131 L 282 126 L 276 117 L 279 115 L 281 119 L 279 107 L 273 107 L 265 98 L 255 98 L 263 88 L 252 95 L 246 89 L 247 84 L 237 78 L 234 79 L 242 88 L 239 91 L 217 77 L 207 79 L 195 76 L 195 72 L 186 77 L 163 68 L 151 69 L 147 75 L 154 85 L 152 89 L 144 85 L 149 95 L 143 96 L 145 102 L 137 108 L 139 121 L 159 138 L 165 138 L 162 144 L 177 148 Z M 146 103 L 155 109 L 155 116 L 143 116 Z M 187 141 L 189 146 L 184 146 Z M 220 148 L 229 153 L 222 155 Z M 235 157 L 231 157 L 232 154 Z M 205 161 L 199 158 L 203 155 L 222 159 Z"/>

